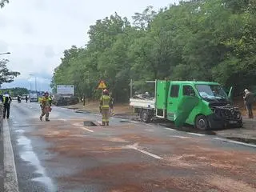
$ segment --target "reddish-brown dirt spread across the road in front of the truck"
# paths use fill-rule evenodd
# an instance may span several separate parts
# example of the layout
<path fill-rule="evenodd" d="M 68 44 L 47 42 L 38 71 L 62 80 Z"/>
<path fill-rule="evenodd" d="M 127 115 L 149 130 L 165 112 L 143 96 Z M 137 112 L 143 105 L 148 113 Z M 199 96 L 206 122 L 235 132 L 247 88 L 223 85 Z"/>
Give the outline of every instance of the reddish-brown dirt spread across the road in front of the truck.
<path fill-rule="evenodd" d="M 26 133 L 50 143 L 43 149 L 53 154 L 48 170 L 70 170 L 54 178 L 65 191 L 256 190 L 255 150 L 129 122 L 87 127 L 84 120 L 40 122 Z"/>

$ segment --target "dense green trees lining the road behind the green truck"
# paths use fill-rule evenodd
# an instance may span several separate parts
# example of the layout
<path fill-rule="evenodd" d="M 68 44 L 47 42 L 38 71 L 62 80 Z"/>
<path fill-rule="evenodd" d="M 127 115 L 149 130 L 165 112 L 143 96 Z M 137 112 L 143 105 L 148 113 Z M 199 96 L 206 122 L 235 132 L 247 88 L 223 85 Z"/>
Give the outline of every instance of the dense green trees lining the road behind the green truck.
<path fill-rule="evenodd" d="M 133 24 L 118 14 L 90 26 L 85 47 L 65 50 L 52 87 L 73 83 L 76 94 L 97 96 L 100 79 L 126 101 L 145 80 L 216 81 L 240 94 L 256 82 L 256 0 L 193 0 L 147 7 Z"/>

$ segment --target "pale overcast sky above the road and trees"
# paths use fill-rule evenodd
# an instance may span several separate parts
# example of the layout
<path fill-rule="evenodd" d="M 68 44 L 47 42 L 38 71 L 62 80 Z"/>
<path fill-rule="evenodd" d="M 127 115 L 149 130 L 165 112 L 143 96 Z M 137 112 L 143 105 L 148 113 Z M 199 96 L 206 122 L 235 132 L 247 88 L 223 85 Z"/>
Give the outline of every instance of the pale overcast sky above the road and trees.
<path fill-rule="evenodd" d="M 178 0 L 10 0 L 0 9 L 0 53 L 11 54 L 0 57 L 8 58 L 10 70 L 21 75 L 3 87 L 30 88 L 29 81 L 34 83 L 30 74 L 36 74 L 38 89 L 48 90 L 63 51 L 72 45 L 84 46 L 89 26 L 97 19 L 115 11 L 131 18 L 146 6 L 158 10 L 174 2 Z"/>

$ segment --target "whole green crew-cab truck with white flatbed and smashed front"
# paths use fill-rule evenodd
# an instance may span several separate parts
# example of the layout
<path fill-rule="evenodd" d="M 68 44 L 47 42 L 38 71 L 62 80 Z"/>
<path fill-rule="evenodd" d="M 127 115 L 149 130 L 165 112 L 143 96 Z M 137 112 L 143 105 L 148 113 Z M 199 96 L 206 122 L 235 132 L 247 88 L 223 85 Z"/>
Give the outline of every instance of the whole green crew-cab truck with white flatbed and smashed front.
<path fill-rule="evenodd" d="M 176 126 L 184 123 L 200 130 L 241 127 L 242 115 L 232 106 L 230 95 L 217 82 L 153 81 L 154 98 L 130 98 L 142 122 L 165 118 Z M 131 82 L 132 90 L 132 82 Z"/>

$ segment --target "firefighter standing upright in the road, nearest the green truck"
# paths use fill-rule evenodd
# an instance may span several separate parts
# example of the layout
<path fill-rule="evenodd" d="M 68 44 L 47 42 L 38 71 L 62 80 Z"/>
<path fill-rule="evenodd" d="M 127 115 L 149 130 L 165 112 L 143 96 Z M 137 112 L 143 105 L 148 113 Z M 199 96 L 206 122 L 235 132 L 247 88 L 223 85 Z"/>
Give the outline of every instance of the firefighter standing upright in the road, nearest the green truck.
<path fill-rule="evenodd" d="M 109 126 L 110 118 L 110 96 L 108 90 L 103 90 L 103 95 L 100 98 L 100 112 L 102 113 L 102 126 Z"/>

